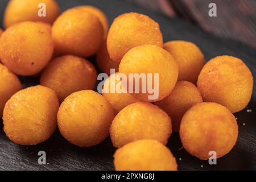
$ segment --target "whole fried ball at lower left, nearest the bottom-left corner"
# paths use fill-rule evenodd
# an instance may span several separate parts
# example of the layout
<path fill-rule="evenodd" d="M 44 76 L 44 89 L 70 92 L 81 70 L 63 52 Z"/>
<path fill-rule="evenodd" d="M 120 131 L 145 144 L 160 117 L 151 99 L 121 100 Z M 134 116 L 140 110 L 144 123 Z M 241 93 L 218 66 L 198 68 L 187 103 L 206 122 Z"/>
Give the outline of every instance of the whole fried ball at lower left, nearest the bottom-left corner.
<path fill-rule="evenodd" d="M 56 128 L 59 101 L 52 89 L 32 86 L 15 93 L 3 110 L 3 129 L 16 144 L 46 141 Z"/>

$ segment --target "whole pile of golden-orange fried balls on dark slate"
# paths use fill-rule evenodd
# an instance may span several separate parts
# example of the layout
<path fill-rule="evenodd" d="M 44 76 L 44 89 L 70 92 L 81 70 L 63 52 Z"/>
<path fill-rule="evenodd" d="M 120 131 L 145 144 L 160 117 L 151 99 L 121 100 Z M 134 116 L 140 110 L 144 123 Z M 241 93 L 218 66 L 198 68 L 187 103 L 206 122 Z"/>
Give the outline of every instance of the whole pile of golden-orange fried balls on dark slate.
<path fill-rule="evenodd" d="M 46 17 L 38 16 L 41 2 Z M 224 55 L 205 64 L 199 47 L 163 43 L 159 24 L 139 13 L 119 15 L 109 28 L 106 15 L 93 6 L 59 15 L 54 0 L 11 0 L 3 22 L 0 114 L 14 143 L 42 143 L 56 126 L 80 147 L 110 134 L 118 148 L 116 170 L 177 170 L 165 146 L 172 131 L 202 160 L 209 151 L 220 158 L 236 144 L 233 113 L 245 109 L 253 92 L 253 76 L 241 59 Z M 159 73 L 159 97 L 94 92 L 96 67 L 85 59 L 93 55 L 101 72 L 116 71 L 103 87 L 122 84 L 117 73 Z M 40 85 L 23 89 L 18 76 L 40 76 Z"/>

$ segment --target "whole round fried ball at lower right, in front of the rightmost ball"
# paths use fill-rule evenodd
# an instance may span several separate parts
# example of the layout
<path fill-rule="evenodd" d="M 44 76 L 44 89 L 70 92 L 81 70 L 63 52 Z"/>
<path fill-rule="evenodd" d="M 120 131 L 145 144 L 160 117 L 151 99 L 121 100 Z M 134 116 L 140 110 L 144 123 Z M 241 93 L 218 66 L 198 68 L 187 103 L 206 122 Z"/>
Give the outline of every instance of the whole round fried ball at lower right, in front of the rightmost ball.
<path fill-rule="evenodd" d="M 215 151 L 217 158 L 232 150 L 238 137 L 234 115 L 224 106 L 203 102 L 192 106 L 180 123 L 180 139 L 185 150 L 199 159 L 210 158 Z"/>

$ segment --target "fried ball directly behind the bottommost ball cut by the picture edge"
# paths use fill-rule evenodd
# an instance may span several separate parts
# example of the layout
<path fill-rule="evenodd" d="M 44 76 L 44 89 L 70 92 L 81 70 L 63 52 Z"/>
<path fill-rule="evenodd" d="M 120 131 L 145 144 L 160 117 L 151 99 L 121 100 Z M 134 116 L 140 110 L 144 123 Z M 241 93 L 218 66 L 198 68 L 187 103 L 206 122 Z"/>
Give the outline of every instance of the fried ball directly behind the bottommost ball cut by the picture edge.
<path fill-rule="evenodd" d="M 140 139 L 155 139 L 166 144 L 171 133 L 168 114 L 147 102 L 136 102 L 123 108 L 110 127 L 111 140 L 117 148 Z"/>

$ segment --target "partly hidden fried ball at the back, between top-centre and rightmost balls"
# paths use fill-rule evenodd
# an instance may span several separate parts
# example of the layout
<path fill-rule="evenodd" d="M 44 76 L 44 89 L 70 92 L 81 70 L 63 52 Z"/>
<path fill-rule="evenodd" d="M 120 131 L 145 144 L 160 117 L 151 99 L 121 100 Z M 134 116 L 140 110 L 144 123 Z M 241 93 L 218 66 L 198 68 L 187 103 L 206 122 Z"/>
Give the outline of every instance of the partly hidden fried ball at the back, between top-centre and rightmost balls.
<path fill-rule="evenodd" d="M 190 81 L 196 84 L 197 77 L 205 64 L 200 48 L 191 42 L 176 40 L 163 45 L 179 65 L 178 80 Z"/>

